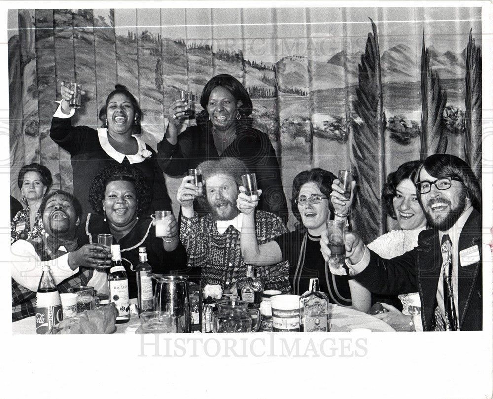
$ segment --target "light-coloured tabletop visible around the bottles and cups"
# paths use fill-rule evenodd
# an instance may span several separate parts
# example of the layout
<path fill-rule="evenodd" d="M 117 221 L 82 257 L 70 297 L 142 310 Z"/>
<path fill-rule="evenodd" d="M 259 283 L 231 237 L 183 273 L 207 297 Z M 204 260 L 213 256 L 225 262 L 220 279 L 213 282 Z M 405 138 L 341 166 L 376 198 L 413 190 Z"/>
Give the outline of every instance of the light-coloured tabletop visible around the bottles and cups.
<path fill-rule="evenodd" d="M 360 312 L 351 307 L 338 306 L 329 303 L 330 332 L 391 332 L 395 331 L 390 325 L 374 316 Z M 115 334 L 134 334 L 140 326 L 139 316 L 132 312 L 127 323 L 116 324 Z M 364 330 L 361 330 L 364 329 Z M 198 332 L 198 331 L 197 331 Z M 12 323 L 12 334 L 36 334 L 35 316 L 27 317 Z"/>

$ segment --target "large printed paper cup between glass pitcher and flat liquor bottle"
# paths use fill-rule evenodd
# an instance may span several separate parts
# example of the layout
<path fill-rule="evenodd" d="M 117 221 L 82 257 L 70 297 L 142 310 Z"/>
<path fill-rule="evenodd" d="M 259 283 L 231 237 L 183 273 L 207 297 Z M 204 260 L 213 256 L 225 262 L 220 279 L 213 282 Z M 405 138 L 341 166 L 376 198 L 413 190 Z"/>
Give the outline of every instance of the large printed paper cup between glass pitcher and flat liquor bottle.
<path fill-rule="evenodd" d="M 274 332 L 300 331 L 300 296 L 291 294 L 271 297 Z"/>

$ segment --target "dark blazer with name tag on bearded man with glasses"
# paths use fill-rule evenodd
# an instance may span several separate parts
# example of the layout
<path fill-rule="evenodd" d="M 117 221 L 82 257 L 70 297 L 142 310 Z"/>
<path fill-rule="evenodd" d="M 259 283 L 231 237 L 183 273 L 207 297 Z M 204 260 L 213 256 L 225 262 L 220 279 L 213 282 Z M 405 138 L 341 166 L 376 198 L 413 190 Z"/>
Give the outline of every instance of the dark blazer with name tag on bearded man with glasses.
<path fill-rule="evenodd" d="M 483 279 L 481 251 L 481 214 L 473 210 L 459 237 L 458 253 L 478 246 L 480 260 L 461 266 L 458 259 L 458 304 L 460 330 L 483 328 Z M 430 331 L 437 306 L 436 292 L 442 266 L 438 230 L 424 230 L 418 246 L 393 259 L 383 259 L 370 251 L 370 263 L 355 279 L 372 292 L 405 294 L 416 292 L 421 299 L 423 330 Z"/>

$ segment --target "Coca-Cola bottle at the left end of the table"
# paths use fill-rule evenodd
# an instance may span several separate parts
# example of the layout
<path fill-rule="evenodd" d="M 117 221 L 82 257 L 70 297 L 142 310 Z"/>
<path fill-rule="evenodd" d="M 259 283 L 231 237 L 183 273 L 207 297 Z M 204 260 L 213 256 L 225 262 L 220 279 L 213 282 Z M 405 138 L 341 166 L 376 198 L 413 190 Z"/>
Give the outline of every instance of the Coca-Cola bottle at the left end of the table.
<path fill-rule="evenodd" d="M 43 266 L 42 271 L 35 306 L 37 334 L 46 334 L 63 320 L 62 302 L 50 266 Z"/>

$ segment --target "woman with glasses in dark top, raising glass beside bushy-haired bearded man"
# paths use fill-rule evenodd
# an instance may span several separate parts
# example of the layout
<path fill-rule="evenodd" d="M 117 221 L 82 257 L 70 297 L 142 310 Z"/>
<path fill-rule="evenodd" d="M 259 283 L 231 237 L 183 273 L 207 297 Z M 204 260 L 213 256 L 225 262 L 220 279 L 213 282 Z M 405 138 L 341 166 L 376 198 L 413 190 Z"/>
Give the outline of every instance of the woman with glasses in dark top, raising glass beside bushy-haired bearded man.
<path fill-rule="evenodd" d="M 335 215 L 336 219 L 347 221 L 356 185 L 353 181 L 351 197 L 343 201 L 343 190 L 334 189 L 331 193 L 333 182 L 338 183 L 336 177 L 320 168 L 299 173 L 293 180 L 291 199 L 292 211 L 299 222 L 297 228 L 262 245 L 257 244 L 255 235 L 253 211 L 257 201 L 250 200 L 245 188 L 240 187 L 237 206 L 244 213 L 242 255 L 246 263 L 256 266 L 272 265 L 287 259 L 290 263 L 289 280 L 296 295 L 308 290 L 310 278 L 317 277 L 320 290 L 328 294 L 331 303 L 367 312 L 370 292 L 351 277 L 331 274 L 320 252 L 320 235 L 327 220 L 334 219 Z"/>

